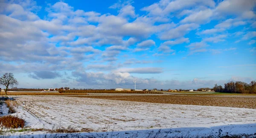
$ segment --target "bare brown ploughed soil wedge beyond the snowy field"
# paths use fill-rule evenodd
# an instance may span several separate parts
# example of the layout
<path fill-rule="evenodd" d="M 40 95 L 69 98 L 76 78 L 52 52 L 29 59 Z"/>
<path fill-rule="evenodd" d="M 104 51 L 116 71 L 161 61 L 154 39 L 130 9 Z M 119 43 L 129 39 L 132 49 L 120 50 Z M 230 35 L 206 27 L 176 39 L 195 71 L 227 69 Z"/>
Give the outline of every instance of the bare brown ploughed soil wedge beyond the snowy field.
<path fill-rule="evenodd" d="M 187 104 L 219 107 L 239 107 L 256 109 L 256 96 L 189 96 L 189 95 L 149 95 L 149 96 L 75 96 L 81 98 L 140 101 L 162 104 Z"/>

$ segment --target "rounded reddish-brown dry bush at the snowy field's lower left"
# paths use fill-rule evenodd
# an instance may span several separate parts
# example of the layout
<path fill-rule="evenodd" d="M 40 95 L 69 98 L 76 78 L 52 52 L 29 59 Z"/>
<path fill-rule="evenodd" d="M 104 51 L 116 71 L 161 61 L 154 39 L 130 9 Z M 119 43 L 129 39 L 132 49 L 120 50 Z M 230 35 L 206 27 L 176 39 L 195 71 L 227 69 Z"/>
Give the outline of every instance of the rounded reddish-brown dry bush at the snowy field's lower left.
<path fill-rule="evenodd" d="M 0 125 L 1 127 L 6 128 L 23 128 L 25 126 L 25 121 L 21 118 L 12 115 L 6 115 L 0 117 Z"/>

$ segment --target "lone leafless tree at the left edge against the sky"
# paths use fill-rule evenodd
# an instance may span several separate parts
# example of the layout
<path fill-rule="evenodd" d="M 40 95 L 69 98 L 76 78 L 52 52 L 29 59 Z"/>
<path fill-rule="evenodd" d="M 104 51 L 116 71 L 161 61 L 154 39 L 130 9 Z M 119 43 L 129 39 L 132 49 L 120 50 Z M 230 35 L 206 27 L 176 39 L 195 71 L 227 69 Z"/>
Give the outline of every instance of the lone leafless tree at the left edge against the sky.
<path fill-rule="evenodd" d="M 19 84 L 19 82 L 17 81 L 17 79 L 14 78 L 14 75 L 12 73 L 5 73 L 0 78 L 0 84 L 6 86 L 5 93 L 7 95 L 8 87 L 9 86 L 13 87 L 13 86 Z"/>

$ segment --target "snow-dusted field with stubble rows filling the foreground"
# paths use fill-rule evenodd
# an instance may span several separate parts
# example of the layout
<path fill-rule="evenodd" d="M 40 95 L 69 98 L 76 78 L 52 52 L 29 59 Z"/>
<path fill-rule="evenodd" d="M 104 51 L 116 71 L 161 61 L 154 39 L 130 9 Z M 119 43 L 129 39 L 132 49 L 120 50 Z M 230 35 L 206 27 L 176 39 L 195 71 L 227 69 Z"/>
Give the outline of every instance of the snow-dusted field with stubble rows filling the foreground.
<path fill-rule="evenodd" d="M 67 96 L 18 96 L 16 100 L 20 107 L 17 109 L 17 113 L 13 115 L 24 118 L 27 122 L 26 126 L 29 128 L 92 131 L 92 133 L 70 134 L 70 136 L 97 135 L 97 137 L 105 137 L 111 135 L 114 138 L 164 135 L 168 137 L 201 137 L 226 135 L 226 132 L 231 135 L 256 133 L 255 109 L 156 104 Z M 160 129 L 162 129 L 161 132 L 157 133 Z M 47 132 L 13 134 L 6 132 L 4 135 L 16 137 L 32 133 L 34 137 L 44 137 L 44 135 L 35 134 Z M 57 136 L 61 135 L 64 134 Z"/>

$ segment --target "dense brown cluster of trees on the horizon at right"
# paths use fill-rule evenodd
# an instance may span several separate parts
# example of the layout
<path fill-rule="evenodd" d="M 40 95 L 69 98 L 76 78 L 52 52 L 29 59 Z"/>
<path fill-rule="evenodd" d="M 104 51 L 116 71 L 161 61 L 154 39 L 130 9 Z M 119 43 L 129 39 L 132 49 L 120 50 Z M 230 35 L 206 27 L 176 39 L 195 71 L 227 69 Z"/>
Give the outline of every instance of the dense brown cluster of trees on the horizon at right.
<path fill-rule="evenodd" d="M 224 88 L 221 85 L 215 84 L 212 88 L 215 92 L 224 93 L 250 93 L 256 94 L 256 81 L 251 81 L 249 84 L 246 82 L 227 82 L 224 84 Z"/>

